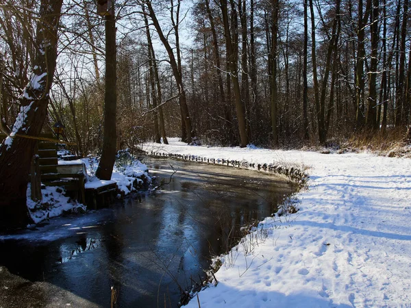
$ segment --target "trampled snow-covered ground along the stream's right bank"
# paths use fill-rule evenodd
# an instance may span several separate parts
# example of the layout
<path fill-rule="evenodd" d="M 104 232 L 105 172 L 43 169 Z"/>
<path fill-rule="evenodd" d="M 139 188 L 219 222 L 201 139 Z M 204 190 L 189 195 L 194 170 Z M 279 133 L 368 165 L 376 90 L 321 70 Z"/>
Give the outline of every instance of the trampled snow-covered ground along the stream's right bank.
<path fill-rule="evenodd" d="M 411 307 L 411 159 L 169 142 L 144 149 L 310 175 L 298 213 L 261 222 L 188 307 Z"/>

